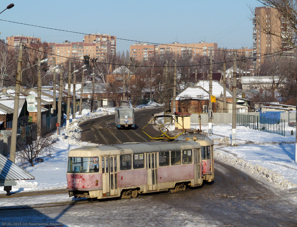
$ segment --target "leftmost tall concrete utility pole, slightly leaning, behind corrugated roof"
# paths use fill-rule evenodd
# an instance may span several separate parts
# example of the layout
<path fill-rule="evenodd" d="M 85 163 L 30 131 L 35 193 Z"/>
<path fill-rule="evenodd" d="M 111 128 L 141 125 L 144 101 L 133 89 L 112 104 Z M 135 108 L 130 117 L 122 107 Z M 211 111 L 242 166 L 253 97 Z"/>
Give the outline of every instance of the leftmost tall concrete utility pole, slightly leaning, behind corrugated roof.
<path fill-rule="evenodd" d="M 23 56 L 23 43 L 20 43 L 19 49 L 18 49 L 18 65 L 17 65 L 16 81 L 15 81 L 15 97 L 14 97 L 14 106 L 13 106 L 12 134 L 11 134 L 10 156 L 9 156 L 9 160 L 11 160 L 13 163 L 15 162 L 16 136 L 17 136 L 17 129 L 18 129 L 18 103 L 20 100 L 22 56 Z"/>

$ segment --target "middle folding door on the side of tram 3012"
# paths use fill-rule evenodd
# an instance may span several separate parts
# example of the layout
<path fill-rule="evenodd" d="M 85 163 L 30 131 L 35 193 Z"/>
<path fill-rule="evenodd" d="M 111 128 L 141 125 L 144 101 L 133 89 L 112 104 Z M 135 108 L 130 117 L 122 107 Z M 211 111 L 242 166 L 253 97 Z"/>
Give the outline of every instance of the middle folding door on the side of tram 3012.
<path fill-rule="evenodd" d="M 146 153 L 147 160 L 147 174 L 146 184 L 148 191 L 154 191 L 158 189 L 158 170 L 157 170 L 157 153 Z"/>

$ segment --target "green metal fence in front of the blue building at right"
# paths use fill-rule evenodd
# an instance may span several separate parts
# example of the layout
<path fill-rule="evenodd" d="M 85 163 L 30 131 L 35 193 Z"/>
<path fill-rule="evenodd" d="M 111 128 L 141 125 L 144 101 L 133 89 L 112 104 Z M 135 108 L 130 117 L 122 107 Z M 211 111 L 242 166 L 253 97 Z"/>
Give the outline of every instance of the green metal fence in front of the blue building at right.
<path fill-rule="evenodd" d="M 249 127 L 250 129 L 260 130 L 263 132 L 279 134 L 282 136 L 288 134 L 288 132 L 286 132 L 285 120 L 277 118 L 237 113 L 236 125 Z"/>

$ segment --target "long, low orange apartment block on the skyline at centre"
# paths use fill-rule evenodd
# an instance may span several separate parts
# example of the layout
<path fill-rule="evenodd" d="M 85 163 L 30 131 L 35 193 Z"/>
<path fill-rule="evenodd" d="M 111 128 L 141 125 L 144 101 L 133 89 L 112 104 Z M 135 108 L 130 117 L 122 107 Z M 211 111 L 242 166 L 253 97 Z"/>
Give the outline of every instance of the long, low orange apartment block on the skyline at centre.
<path fill-rule="evenodd" d="M 214 54 L 214 51 L 218 50 L 217 43 L 191 43 L 182 44 L 179 42 L 173 42 L 172 44 L 160 44 L 153 45 L 148 43 L 137 43 L 130 46 L 130 57 L 135 60 L 147 60 L 149 57 L 155 56 L 156 54 L 192 54 L 209 56 Z"/>

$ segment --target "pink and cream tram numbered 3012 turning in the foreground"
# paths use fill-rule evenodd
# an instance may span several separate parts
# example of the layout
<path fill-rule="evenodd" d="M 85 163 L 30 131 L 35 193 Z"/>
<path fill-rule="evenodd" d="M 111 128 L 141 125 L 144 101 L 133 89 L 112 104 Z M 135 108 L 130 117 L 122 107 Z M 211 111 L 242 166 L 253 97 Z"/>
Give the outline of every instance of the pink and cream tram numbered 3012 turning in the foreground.
<path fill-rule="evenodd" d="M 67 184 L 75 198 L 135 198 L 185 190 L 214 180 L 213 142 L 204 135 L 172 142 L 85 146 L 68 153 Z"/>

